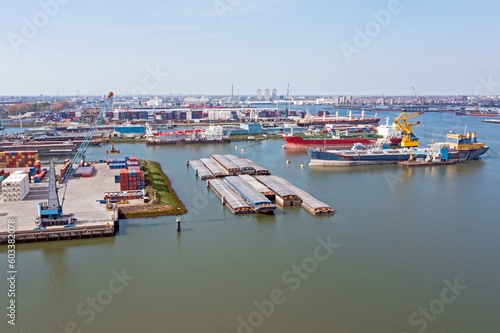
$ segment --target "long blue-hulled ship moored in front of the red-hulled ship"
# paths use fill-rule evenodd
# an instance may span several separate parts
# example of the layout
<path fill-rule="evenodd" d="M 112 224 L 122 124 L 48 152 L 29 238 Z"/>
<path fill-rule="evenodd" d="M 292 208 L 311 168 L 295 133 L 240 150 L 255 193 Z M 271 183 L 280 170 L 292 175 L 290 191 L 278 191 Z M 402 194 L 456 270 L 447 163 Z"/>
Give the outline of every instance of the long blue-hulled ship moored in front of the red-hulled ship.
<path fill-rule="evenodd" d="M 447 141 L 435 143 L 429 148 L 390 149 L 387 146 L 369 149 L 357 144 L 351 150 L 329 151 L 320 148 L 308 149 L 309 165 L 346 166 L 367 164 L 397 164 L 400 161 L 427 160 L 429 156 L 440 156 L 440 160 L 468 161 L 478 159 L 488 151 L 484 143 L 478 143 L 476 133 L 448 134 Z"/>

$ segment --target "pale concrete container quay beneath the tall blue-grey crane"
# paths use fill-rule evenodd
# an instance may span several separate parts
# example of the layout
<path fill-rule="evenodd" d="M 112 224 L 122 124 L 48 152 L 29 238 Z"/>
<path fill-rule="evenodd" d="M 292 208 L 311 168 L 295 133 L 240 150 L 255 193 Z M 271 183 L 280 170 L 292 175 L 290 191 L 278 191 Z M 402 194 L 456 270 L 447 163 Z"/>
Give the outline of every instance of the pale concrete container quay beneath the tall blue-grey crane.
<path fill-rule="evenodd" d="M 0 215 L 3 216 L 0 221 L 0 244 L 7 244 L 9 220 L 15 221 L 18 243 L 114 236 L 119 228 L 117 206 L 113 205 L 109 211 L 96 198 L 102 198 L 106 190 L 119 188 L 113 179 L 115 170 L 109 169 L 105 163 L 94 166 L 97 170 L 94 176 L 73 178 L 66 189 L 64 212 L 74 213 L 76 219 L 71 227 L 59 225 L 40 228 L 35 224 L 39 214 L 38 203 L 48 197 L 49 177 L 45 177 L 40 183 L 30 183 L 30 191 L 24 200 L 0 204 Z M 61 167 L 56 165 L 57 173 Z"/>

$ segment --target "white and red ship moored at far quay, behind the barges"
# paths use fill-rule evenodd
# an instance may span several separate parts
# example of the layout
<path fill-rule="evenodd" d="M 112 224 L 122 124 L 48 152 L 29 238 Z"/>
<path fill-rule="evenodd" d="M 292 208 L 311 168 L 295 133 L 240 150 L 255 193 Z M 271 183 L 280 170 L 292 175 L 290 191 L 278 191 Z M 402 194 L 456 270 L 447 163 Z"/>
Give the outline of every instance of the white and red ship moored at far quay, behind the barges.
<path fill-rule="evenodd" d="M 207 129 L 192 128 L 186 130 L 153 131 L 146 124 L 146 144 L 195 144 L 195 143 L 229 143 L 228 135 L 224 135 L 222 126 L 210 126 Z"/>

